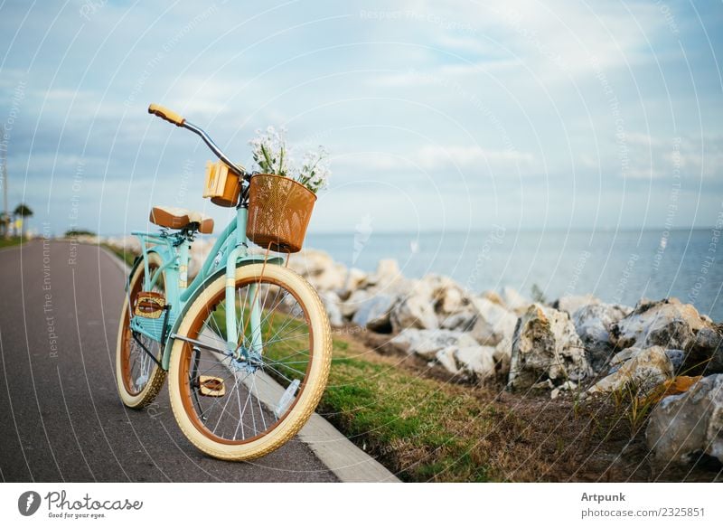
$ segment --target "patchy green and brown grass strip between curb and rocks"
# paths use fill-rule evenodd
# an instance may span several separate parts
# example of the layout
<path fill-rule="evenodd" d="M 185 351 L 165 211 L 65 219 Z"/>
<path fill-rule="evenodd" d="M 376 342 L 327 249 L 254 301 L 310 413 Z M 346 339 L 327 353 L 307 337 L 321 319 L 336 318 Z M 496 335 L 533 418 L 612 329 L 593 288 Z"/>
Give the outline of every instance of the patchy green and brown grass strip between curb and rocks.
<path fill-rule="evenodd" d="M 656 474 L 630 400 L 549 400 L 472 387 L 424 362 L 336 334 L 324 417 L 406 481 L 711 481 Z"/>

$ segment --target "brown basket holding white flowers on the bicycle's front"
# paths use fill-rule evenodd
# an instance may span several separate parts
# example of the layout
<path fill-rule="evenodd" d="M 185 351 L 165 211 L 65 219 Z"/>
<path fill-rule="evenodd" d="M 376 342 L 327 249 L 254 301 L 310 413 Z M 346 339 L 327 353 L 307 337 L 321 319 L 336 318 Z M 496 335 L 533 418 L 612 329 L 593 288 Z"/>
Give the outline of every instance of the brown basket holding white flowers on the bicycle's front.
<path fill-rule="evenodd" d="M 316 194 L 283 175 L 257 174 L 249 188 L 246 235 L 264 249 L 298 252 L 314 210 Z"/>

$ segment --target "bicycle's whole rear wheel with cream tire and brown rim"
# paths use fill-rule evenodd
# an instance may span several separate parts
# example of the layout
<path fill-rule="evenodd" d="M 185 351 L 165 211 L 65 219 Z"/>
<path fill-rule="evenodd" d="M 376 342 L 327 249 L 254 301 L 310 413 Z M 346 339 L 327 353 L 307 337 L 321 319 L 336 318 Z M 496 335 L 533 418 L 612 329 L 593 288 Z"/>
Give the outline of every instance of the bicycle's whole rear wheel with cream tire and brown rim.
<path fill-rule="evenodd" d="M 163 264 L 154 252 L 148 253 L 148 270 L 151 274 Z M 161 344 L 130 329 L 131 301 L 142 290 L 146 269 L 139 265 L 130 277 L 126 300 L 120 315 L 116 348 L 116 383 L 120 399 L 128 408 L 142 409 L 150 404 L 164 385 L 166 372 L 159 367 L 146 349 L 160 361 L 163 355 Z M 157 293 L 164 293 L 165 276 L 160 277 L 154 287 Z M 140 343 L 138 343 L 140 341 Z"/>

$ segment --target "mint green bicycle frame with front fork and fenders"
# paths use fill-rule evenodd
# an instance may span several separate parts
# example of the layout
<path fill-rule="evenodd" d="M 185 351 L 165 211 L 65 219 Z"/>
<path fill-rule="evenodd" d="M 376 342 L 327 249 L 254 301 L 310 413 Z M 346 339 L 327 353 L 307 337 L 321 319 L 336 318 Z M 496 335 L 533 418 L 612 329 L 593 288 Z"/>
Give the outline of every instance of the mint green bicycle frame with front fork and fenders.
<path fill-rule="evenodd" d="M 253 263 L 263 263 L 264 261 L 272 265 L 284 263 L 282 258 L 267 259 L 263 255 L 249 254 L 249 240 L 246 237 L 247 214 L 248 209 L 245 205 L 237 207 L 236 218 L 230 221 L 229 225 L 221 232 L 208 258 L 203 262 L 201 270 L 193 278 L 191 284 L 187 284 L 187 281 L 192 235 L 187 231 L 168 232 L 167 230 L 162 230 L 158 234 L 142 231 L 131 232 L 140 240 L 142 254 L 134 262 L 126 289 L 128 290 L 130 276 L 140 265 L 143 265 L 146 271 L 143 284 L 144 291 L 152 290 L 162 273 L 164 273 L 164 294 L 168 308 L 167 315 L 162 315 L 158 319 L 134 315 L 131 318 L 130 328 L 132 331 L 143 334 L 164 345 L 163 356 L 160 360 L 164 370 L 168 370 L 175 333 L 178 326 L 181 325 L 187 307 L 211 281 L 219 278 L 222 274 L 226 275 L 226 306 L 235 306 L 236 268 Z M 163 262 L 153 275 L 149 273 L 148 268 L 148 254 L 151 252 L 157 254 Z M 249 315 L 250 347 L 257 353 L 261 353 L 263 345 L 260 331 L 261 312 L 258 295 L 255 294 L 256 287 L 255 284 L 249 286 L 249 293 L 255 298 Z M 230 353 L 237 353 L 239 348 L 239 322 L 236 320 L 236 310 L 226 309 L 226 346 L 227 351 Z M 241 353 L 243 353 L 243 350 Z"/>

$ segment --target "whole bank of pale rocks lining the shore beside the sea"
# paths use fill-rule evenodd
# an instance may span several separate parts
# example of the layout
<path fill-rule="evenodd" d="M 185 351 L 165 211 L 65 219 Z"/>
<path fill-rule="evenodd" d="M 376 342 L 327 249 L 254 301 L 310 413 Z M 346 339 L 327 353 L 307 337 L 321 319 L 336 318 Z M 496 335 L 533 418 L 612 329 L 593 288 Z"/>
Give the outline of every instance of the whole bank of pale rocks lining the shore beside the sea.
<path fill-rule="evenodd" d="M 106 242 L 137 249 L 128 239 Z M 210 248 L 194 244 L 191 273 Z M 292 255 L 289 267 L 319 292 L 333 326 L 380 335 L 463 382 L 643 403 L 653 460 L 723 463 L 723 325 L 676 298 L 621 306 L 564 296 L 545 305 L 510 287 L 474 293 L 444 276 L 405 278 L 391 259 L 371 273 L 346 268 L 314 249 Z"/>

